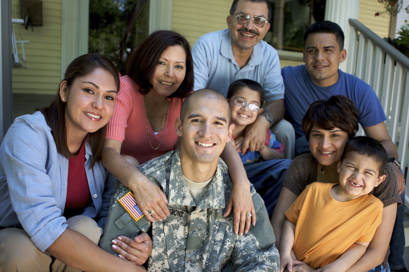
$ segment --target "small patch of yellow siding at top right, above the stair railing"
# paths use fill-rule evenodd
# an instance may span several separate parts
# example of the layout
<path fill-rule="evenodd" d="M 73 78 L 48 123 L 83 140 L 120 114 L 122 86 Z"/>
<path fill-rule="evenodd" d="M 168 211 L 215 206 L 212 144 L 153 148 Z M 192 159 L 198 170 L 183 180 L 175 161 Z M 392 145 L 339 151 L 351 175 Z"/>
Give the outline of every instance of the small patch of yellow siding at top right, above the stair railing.
<path fill-rule="evenodd" d="M 381 38 L 389 36 L 391 20 L 387 14 L 375 17 L 375 13 L 382 10 L 377 0 L 360 0 L 358 20 Z"/>

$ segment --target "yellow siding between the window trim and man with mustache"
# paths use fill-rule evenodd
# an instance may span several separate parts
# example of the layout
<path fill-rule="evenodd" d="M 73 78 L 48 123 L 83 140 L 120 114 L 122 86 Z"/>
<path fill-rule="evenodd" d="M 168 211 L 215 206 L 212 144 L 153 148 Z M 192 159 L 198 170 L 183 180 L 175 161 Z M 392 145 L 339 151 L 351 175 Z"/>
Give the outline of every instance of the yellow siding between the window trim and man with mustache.
<path fill-rule="evenodd" d="M 227 28 L 232 0 L 173 0 L 172 28 L 190 45 L 209 32 Z"/>

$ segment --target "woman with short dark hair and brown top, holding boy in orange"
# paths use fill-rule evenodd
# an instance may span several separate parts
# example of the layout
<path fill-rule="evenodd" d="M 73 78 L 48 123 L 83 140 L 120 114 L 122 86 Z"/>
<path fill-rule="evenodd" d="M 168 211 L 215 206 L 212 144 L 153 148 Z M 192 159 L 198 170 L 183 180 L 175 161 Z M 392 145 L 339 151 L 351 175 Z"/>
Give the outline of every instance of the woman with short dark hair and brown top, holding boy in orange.
<path fill-rule="evenodd" d="M 288 168 L 283 187 L 274 209 L 271 224 L 279 247 L 285 211 L 297 196 L 312 182 L 339 181 L 337 163 L 341 159 L 346 142 L 355 137 L 359 112 L 353 102 L 343 95 L 312 103 L 302 121 L 303 131 L 310 142 L 311 153 L 297 156 Z M 365 254 L 348 270 L 367 271 L 382 260 L 387 268 L 387 249 L 391 238 L 397 205 L 402 204 L 398 193 L 395 171 L 387 164 L 386 179 L 371 192 L 384 204 L 382 223 Z M 385 256 L 386 254 L 386 256 Z M 302 264 L 305 265 L 305 264 Z M 385 270 L 383 270 L 385 271 Z"/>

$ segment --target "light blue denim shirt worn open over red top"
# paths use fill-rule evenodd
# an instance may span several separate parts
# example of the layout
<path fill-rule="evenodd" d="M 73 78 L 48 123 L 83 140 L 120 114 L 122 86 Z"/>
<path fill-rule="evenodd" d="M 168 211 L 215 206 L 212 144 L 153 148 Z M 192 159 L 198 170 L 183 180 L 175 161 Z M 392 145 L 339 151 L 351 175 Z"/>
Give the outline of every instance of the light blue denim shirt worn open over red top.
<path fill-rule="evenodd" d="M 104 227 L 116 180 L 101 162 L 88 169 L 92 151 L 85 145 L 85 172 L 92 205 L 83 215 Z M 42 113 L 16 118 L 0 147 L 0 226 L 21 224 L 34 244 L 46 250 L 67 228 L 62 216 L 67 197 L 68 159 L 57 152 Z"/>

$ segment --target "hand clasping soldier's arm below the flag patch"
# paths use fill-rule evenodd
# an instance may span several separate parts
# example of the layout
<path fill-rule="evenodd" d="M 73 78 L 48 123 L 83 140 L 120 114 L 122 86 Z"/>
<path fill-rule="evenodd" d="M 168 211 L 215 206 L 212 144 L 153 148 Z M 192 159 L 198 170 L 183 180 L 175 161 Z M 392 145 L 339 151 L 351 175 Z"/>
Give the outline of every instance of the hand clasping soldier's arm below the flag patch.
<path fill-rule="evenodd" d="M 142 233 L 134 240 L 119 236 L 112 240 L 112 249 L 117 252 L 119 258 L 125 258 L 136 265 L 143 265 L 152 252 L 152 240 L 147 233 Z"/>

